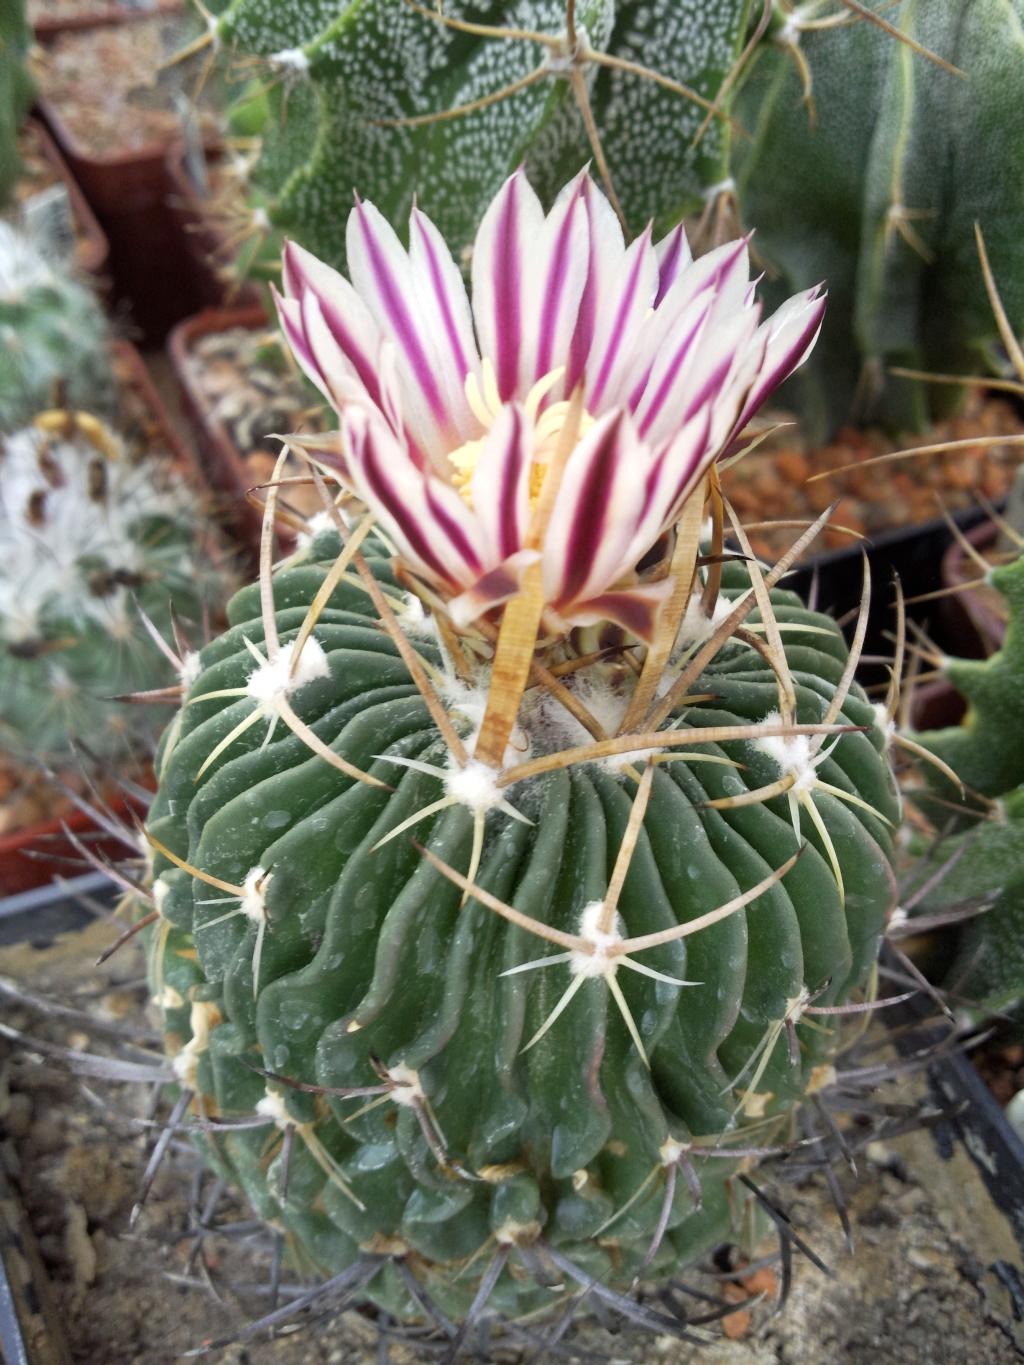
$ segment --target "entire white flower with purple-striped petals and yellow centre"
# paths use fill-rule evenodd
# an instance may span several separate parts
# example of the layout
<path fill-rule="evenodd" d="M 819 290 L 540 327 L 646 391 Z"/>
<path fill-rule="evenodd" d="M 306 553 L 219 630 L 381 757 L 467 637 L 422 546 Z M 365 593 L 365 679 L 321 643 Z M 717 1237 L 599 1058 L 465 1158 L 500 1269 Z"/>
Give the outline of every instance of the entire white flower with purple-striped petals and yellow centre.
<path fill-rule="evenodd" d="M 351 283 L 288 244 L 277 304 L 339 414 L 341 476 L 408 566 L 460 628 L 539 562 L 549 627 L 650 639 L 672 584 L 636 566 L 812 348 L 819 289 L 762 322 L 745 239 L 698 261 L 681 227 L 627 246 L 586 173 L 546 216 L 522 172 L 505 182 L 471 298 L 418 209 L 406 250 L 356 203 L 347 255 Z"/>

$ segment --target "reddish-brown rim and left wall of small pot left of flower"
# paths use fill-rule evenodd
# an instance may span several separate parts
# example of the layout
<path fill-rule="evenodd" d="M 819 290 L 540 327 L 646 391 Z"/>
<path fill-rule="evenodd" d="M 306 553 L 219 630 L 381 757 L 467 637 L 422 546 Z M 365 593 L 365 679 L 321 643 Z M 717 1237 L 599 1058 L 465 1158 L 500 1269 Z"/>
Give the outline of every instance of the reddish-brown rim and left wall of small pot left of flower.
<path fill-rule="evenodd" d="M 259 550 L 264 524 L 261 512 L 246 500 L 253 480 L 227 427 L 210 411 L 193 373 L 188 352 L 199 337 L 210 333 L 229 332 L 232 328 L 255 330 L 266 326 L 268 317 L 262 308 L 208 308 L 205 313 L 180 322 L 168 339 L 171 363 L 182 390 L 182 404 L 195 430 L 203 472 L 213 487 L 224 494 L 232 530 L 247 547 L 253 562 L 255 562 Z"/>

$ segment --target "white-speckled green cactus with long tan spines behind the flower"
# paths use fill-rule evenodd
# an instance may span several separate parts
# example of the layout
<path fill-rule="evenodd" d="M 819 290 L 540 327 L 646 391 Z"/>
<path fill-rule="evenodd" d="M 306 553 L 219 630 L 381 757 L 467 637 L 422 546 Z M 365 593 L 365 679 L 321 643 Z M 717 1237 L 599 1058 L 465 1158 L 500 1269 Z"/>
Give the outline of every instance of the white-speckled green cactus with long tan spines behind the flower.
<path fill-rule="evenodd" d="M 588 0 L 576 7 L 576 26 L 595 51 L 713 101 L 743 44 L 748 10 L 748 0 Z M 565 27 L 563 0 L 445 5 L 444 14 L 552 38 Z M 235 0 L 216 33 L 228 61 L 254 55 L 283 78 L 262 126 L 254 176 L 261 203 L 266 197 L 277 227 L 337 265 L 337 222 L 354 191 L 392 222 L 415 199 L 459 251 L 517 165 L 553 198 L 593 156 L 567 79 L 572 61 L 538 42 L 456 31 L 404 0 Z M 474 112 L 416 127 L 381 121 L 487 98 L 527 82 L 545 61 L 543 78 Z M 580 70 L 631 227 L 639 232 L 653 218 L 664 228 L 699 209 L 705 191 L 728 176 L 728 121 L 713 117 L 692 146 L 706 112 L 698 104 L 635 72 L 594 63 Z"/>

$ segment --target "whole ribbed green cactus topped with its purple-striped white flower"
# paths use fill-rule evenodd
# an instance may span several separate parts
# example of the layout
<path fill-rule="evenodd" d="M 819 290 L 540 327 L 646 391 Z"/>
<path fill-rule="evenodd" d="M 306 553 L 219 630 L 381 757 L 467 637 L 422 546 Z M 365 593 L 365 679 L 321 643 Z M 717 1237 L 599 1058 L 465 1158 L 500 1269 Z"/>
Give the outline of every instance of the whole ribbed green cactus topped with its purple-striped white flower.
<path fill-rule="evenodd" d="M 341 487 L 276 572 L 266 536 L 147 824 L 153 990 L 210 1162 L 404 1320 L 750 1235 L 737 1175 L 870 992 L 898 816 L 856 650 L 777 587 L 811 532 L 765 573 L 698 558 L 714 460 L 821 299 L 759 328 L 744 243 L 627 248 L 588 180 L 545 220 L 516 175 L 474 330 L 412 235 L 354 210 L 355 288 L 288 250 Z"/>

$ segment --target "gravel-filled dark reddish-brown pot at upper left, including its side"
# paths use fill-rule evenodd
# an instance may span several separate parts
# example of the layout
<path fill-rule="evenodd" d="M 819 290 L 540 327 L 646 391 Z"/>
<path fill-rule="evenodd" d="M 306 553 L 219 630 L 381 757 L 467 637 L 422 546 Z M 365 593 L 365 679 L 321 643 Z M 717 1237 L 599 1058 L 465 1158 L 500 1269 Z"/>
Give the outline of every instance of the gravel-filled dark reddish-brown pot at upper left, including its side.
<path fill-rule="evenodd" d="M 40 113 L 111 240 L 115 292 L 146 340 L 199 307 L 188 247 L 168 212 L 167 149 L 190 66 L 158 67 L 186 41 L 182 19 L 123 15 L 63 33 L 46 49 Z M 213 126 L 205 123 L 210 135 Z"/>

